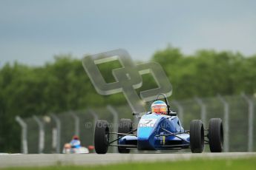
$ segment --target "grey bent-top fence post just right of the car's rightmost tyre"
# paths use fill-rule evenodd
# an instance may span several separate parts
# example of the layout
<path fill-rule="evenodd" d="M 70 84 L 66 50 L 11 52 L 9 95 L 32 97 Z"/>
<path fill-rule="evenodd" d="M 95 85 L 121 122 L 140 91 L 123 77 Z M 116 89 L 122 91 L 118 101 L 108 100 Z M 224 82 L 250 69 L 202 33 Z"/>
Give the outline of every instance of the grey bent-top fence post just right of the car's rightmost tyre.
<path fill-rule="evenodd" d="M 229 103 L 221 95 L 217 95 L 224 106 L 224 152 L 229 152 Z"/>

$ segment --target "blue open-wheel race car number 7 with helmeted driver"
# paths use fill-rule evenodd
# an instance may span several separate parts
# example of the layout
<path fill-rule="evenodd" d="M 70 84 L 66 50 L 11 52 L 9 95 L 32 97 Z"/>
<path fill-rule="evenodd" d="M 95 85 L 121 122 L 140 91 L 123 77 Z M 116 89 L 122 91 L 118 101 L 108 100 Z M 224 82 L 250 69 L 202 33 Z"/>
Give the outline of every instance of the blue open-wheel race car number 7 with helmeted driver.
<path fill-rule="evenodd" d="M 165 102 L 158 100 L 160 95 L 164 96 Z M 201 120 L 191 120 L 190 129 L 184 130 L 177 113 L 171 111 L 166 96 L 160 95 L 152 104 L 151 112 L 142 115 L 137 129 L 133 129 L 131 119 L 122 118 L 119 120 L 118 132 L 110 132 L 110 125 L 106 120 L 97 120 L 94 134 L 96 153 L 105 154 L 108 146 L 118 147 L 119 153 L 129 153 L 130 149 L 146 151 L 188 148 L 192 153 L 201 153 L 205 144 L 209 144 L 211 152 L 222 152 L 223 123 L 220 118 L 211 118 L 209 129 L 204 129 Z M 159 114 L 161 109 L 163 114 Z M 138 117 L 140 113 L 133 115 Z M 116 139 L 110 140 L 110 135 L 116 135 Z M 114 144 L 116 141 L 117 144 Z"/>

